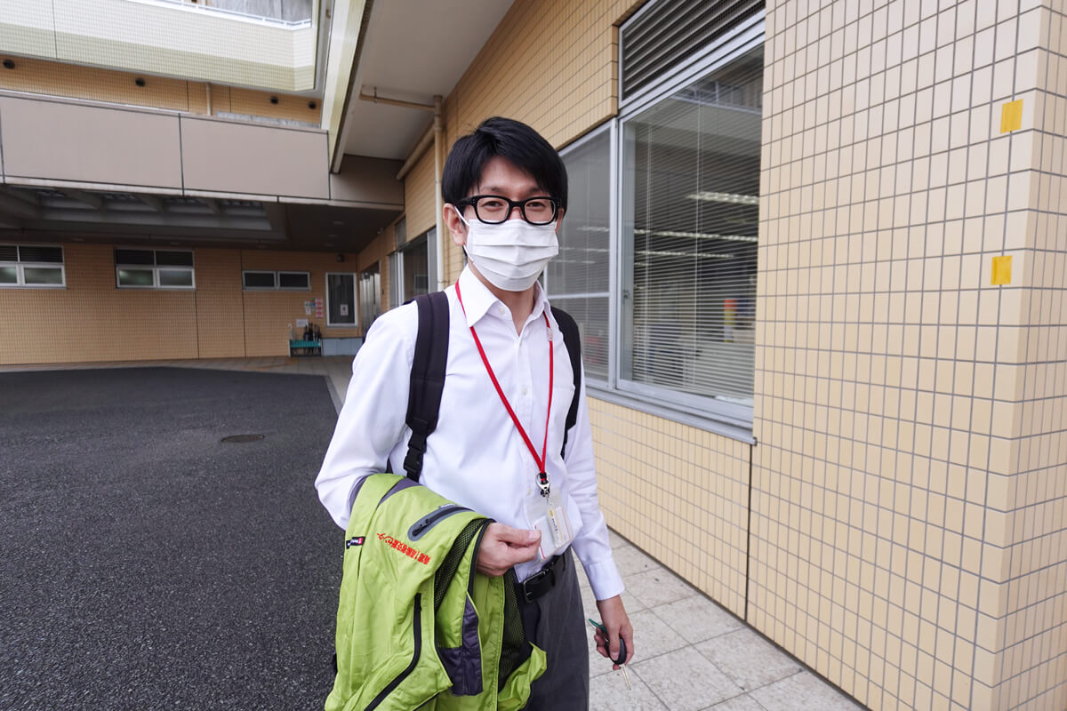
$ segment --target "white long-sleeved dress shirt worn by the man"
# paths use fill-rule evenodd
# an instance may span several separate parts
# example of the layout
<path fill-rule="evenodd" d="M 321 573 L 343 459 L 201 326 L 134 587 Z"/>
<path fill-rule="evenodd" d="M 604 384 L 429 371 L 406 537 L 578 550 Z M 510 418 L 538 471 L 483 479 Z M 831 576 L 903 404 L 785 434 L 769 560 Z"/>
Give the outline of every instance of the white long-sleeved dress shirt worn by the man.
<path fill-rule="evenodd" d="M 437 427 L 427 438 L 419 483 L 500 523 L 532 528 L 526 512 L 529 503 L 543 501 L 537 486 L 539 469 L 490 381 L 471 326 L 477 330 L 497 382 L 540 456 L 548 405 L 550 328 L 543 316 L 547 313 L 554 386 L 545 469 L 553 492 L 561 496 L 574 535 L 572 546 L 589 576 L 593 594 L 598 600 L 620 594 L 622 578 L 611 558 L 607 524 L 596 498 L 585 377 L 577 422 L 568 437 L 567 456 L 560 456 L 574 376 L 563 336 L 544 292 L 537 287 L 534 311 L 522 334 L 516 334 L 511 311 L 469 269 L 463 270 L 459 285 L 466 314 L 456 287 L 449 287 L 445 387 Z M 411 437 L 404 418 L 417 332 L 415 304 L 387 311 L 375 321 L 352 362 L 345 405 L 315 481 L 319 499 L 341 528 L 348 524 L 351 492 L 360 479 L 383 471 L 386 460 L 397 473 L 403 473 Z M 515 572 L 525 580 L 541 565 L 539 561 L 524 563 L 515 566 Z"/>

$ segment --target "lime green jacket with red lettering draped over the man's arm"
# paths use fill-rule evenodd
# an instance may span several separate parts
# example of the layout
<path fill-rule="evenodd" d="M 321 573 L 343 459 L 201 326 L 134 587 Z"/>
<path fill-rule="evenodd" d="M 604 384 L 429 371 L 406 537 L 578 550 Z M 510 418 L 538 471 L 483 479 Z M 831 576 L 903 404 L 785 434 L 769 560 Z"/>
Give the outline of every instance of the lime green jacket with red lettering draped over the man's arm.
<path fill-rule="evenodd" d="M 545 656 L 526 639 L 514 571 L 475 571 L 492 519 L 392 473 L 354 497 L 325 711 L 522 709 Z"/>

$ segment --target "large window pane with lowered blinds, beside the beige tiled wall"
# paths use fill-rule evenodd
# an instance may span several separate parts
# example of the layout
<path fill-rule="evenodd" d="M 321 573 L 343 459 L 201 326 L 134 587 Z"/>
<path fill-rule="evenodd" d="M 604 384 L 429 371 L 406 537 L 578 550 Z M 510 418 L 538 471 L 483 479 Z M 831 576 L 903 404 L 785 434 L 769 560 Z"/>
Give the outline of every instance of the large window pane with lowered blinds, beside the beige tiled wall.
<path fill-rule="evenodd" d="M 761 46 L 621 124 L 620 379 L 639 388 L 752 405 L 762 78 Z"/>

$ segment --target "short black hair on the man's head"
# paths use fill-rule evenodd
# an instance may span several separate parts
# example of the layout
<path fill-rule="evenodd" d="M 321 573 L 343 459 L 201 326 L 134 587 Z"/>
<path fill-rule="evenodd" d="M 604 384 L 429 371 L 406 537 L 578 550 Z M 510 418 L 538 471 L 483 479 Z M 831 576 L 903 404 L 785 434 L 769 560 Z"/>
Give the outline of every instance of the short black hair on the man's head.
<path fill-rule="evenodd" d="M 487 118 L 452 145 L 441 176 L 442 199 L 456 205 L 466 197 L 495 156 L 528 173 L 548 197 L 567 208 L 567 167 L 559 153 L 526 124 L 500 116 Z"/>

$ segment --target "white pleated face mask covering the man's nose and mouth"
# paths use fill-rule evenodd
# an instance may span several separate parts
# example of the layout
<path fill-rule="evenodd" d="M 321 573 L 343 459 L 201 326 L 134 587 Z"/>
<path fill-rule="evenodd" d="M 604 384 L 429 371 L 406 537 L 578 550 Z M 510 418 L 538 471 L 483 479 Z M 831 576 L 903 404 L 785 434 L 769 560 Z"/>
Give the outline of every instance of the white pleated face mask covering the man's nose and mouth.
<path fill-rule="evenodd" d="M 488 225 L 480 220 L 467 222 L 462 214 L 460 220 L 467 227 L 467 258 L 497 289 L 526 291 L 559 254 L 554 222 L 531 225 L 525 220 L 508 220 Z"/>

